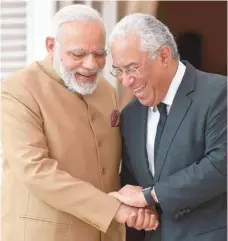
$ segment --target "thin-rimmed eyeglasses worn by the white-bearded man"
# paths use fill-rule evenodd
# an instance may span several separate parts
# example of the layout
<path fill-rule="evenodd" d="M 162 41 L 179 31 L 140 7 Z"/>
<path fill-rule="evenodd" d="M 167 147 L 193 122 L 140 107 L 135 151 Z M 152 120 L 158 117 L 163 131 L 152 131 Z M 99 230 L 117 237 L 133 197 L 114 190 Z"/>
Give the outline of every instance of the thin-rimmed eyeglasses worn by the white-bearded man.
<path fill-rule="evenodd" d="M 55 39 L 58 45 L 61 45 L 60 42 Z M 72 58 L 73 60 L 83 60 L 90 54 L 94 56 L 94 58 L 99 59 L 99 58 L 104 58 L 107 56 L 107 50 L 106 49 L 101 49 L 100 51 L 93 51 L 93 52 L 86 52 L 83 49 L 77 49 L 75 51 L 69 51 L 66 50 L 67 55 Z"/>

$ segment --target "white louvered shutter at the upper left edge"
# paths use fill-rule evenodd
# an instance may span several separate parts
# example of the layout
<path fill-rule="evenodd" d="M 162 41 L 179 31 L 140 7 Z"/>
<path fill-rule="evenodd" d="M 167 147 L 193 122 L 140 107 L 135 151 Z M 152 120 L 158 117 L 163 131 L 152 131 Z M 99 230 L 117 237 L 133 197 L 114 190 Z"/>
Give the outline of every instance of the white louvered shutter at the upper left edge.
<path fill-rule="evenodd" d="M 26 64 L 26 7 L 26 1 L 1 1 L 1 79 Z"/>

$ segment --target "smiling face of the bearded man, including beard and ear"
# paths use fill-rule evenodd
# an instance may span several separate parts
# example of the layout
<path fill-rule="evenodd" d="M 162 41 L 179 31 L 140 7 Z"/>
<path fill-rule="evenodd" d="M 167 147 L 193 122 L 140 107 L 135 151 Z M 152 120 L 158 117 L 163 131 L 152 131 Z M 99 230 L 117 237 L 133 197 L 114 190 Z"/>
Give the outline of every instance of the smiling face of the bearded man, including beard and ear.
<path fill-rule="evenodd" d="M 70 21 L 60 28 L 56 39 L 47 38 L 49 51 L 54 44 L 53 67 L 67 88 L 81 95 L 91 94 L 105 65 L 103 23 Z"/>

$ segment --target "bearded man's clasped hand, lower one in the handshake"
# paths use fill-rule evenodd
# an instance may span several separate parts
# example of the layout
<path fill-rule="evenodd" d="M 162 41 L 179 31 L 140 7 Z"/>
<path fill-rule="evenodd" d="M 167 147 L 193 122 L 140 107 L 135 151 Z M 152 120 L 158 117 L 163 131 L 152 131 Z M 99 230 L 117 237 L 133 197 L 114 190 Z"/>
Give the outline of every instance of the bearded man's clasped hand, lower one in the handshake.
<path fill-rule="evenodd" d="M 159 225 L 157 213 L 150 208 L 134 208 L 121 204 L 115 220 L 119 223 L 126 223 L 129 227 L 134 227 L 138 230 L 145 229 L 155 230 Z"/>

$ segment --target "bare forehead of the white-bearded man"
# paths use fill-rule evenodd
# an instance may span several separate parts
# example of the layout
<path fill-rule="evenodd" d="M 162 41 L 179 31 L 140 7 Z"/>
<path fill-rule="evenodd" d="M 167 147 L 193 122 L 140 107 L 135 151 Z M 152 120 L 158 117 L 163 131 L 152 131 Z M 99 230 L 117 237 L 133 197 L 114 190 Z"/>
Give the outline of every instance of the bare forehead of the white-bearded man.
<path fill-rule="evenodd" d="M 59 39 L 68 48 L 99 49 L 105 45 L 105 32 L 99 21 L 72 21 L 60 27 Z"/>

